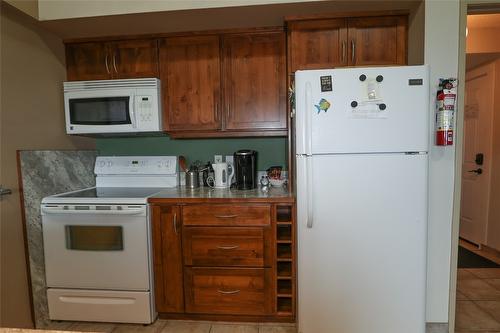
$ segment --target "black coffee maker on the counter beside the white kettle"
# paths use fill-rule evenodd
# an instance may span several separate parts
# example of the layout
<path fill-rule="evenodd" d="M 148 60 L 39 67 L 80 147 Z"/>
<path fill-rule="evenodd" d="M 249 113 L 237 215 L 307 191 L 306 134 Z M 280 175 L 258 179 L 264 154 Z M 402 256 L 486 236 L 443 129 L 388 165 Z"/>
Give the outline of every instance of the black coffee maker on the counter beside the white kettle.
<path fill-rule="evenodd" d="M 238 150 L 233 155 L 238 190 L 250 190 L 257 187 L 257 152 Z"/>

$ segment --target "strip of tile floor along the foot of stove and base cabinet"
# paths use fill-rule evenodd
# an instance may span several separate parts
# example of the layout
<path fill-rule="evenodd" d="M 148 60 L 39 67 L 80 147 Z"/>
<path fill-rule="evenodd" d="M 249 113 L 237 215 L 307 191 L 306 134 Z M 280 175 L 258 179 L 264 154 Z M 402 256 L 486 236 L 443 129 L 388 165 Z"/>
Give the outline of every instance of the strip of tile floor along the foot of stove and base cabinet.
<path fill-rule="evenodd" d="M 296 333 L 295 324 L 206 322 L 159 319 L 151 325 L 53 322 L 46 329 L 106 333 Z"/>

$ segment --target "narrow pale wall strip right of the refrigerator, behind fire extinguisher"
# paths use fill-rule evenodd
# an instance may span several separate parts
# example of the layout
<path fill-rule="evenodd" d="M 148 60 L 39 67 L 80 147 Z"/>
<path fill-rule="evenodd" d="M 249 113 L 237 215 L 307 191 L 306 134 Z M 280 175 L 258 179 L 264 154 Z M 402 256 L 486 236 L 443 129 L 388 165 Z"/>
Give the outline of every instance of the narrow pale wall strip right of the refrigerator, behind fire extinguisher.
<path fill-rule="evenodd" d="M 430 67 L 431 115 L 434 114 L 434 96 L 439 78 L 458 76 L 459 13 L 459 1 L 426 0 L 425 2 L 425 63 Z M 452 279 L 451 235 L 457 146 L 434 145 L 433 119 L 431 116 L 429 122 L 431 130 L 429 131 L 427 321 L 447 323 Z"/>

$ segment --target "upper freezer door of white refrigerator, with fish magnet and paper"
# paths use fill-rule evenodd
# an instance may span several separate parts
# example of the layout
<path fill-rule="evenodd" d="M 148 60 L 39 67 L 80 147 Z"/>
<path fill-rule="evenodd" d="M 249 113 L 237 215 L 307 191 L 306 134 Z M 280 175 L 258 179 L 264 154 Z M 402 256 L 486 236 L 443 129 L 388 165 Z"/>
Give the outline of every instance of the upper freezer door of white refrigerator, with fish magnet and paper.
<path fill-rule="evenodd" d="M 428 81 L 427 66 L 298 71 L 297 154 L 427 151 Z"/>

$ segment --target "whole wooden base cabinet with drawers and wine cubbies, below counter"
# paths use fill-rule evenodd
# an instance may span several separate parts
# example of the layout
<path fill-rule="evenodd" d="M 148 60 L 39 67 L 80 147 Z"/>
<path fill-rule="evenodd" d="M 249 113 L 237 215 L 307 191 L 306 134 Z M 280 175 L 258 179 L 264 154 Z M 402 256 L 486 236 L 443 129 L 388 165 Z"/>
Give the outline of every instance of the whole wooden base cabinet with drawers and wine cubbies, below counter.
<path fill-rule="evenodd" d="M 295 319 L 295 206 L 152 204 L 156 307 L 164 318 Z"/>

